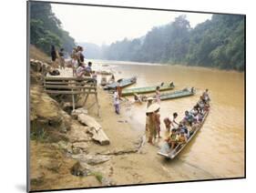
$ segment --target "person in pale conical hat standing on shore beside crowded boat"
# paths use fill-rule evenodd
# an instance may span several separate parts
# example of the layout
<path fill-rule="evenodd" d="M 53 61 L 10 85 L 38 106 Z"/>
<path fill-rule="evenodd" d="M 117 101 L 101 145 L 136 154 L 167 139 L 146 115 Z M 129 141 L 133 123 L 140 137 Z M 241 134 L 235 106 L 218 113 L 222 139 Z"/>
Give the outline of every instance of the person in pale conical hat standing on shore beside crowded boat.
<path fill-rule="evenodd" d="M 158 111 L 160 109 L 159 104 L 152 104 L 147 109 L 148 114 L 148 130 L 149 130 L 149 136 L 148 136 L 148 143 L 153 145 L 153 139 L 157 137 L 157 123 L 156 123 L 156 115 L 154 112 Z"/>

